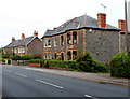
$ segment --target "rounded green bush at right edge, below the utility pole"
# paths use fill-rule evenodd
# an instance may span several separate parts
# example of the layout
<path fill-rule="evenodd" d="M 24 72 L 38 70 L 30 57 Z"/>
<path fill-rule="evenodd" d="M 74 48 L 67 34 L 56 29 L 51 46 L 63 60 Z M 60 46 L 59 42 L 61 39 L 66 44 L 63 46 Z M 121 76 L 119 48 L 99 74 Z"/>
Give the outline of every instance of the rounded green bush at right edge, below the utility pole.
<path fill-rule="evenodd" d="M 112 76 L 130 79 L 130 52 L 115 55 L 109 66 Z"/>

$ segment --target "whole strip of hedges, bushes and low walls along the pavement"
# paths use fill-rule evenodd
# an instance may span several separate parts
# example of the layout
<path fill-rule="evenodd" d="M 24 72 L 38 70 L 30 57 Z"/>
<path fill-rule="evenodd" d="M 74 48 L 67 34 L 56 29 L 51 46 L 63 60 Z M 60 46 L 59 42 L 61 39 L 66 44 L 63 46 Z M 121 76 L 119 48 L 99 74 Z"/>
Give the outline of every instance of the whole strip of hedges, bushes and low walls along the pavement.
<path fill-rule="evenodd" d="M 11 63 L 10 56 L 3 55 L 0 62 Z M 127 77 L 130 79 L 130 52 L 119 53 L 115 55 L 109 65 L 101 63 L 93 59 L 92 55 L 88 52 L 78 54 L 76 60 L 62 61 L 62 60 L 46 60 L 41 59 L 39 55 L 24 55 L 13 56 L 12 61 L 15 65 L 29 65 L 31 67 L 62 69 L 78 72 L 93 72 L 93 73 L 110 73 L 113 77 Z"/>

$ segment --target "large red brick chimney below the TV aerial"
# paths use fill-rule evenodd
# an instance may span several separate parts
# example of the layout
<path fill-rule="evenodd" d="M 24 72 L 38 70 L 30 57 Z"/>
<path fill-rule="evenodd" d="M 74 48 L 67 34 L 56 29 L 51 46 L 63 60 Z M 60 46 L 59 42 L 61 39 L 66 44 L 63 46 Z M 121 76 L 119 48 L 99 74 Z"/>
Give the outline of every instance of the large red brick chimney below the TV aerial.
<path fill-rule="evenodd" d="M 105 13 L 98 14 L 98 26 L 100 28 L 106 28 L 106 14 Z"/>

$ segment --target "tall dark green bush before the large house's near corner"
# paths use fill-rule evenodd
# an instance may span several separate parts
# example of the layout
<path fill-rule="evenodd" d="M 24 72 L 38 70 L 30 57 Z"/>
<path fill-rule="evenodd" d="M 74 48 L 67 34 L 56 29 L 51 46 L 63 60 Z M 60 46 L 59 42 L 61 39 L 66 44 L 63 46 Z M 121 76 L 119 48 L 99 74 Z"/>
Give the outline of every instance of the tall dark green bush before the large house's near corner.
<path fill-rule="evenodd" d="M 78 58 L 77 58 L 77 62 L 79 70 L 84 71 L 84 72 L 103 72 L 103 73 L 107 73 L 108 72 L 108 68 L 103 65 L 100 63 L 98 61 L 95 61 L 92 58 L 92 55 L 88 52 L 80 52 L 81 54 L 78 54 Z"/>

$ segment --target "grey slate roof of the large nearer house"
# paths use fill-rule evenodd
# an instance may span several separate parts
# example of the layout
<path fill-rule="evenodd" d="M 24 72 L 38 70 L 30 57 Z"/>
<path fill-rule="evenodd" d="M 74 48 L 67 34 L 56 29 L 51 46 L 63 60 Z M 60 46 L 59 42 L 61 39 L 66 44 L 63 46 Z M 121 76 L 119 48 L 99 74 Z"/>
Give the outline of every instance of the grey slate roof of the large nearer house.
<path fill-rule="evenodd" d="M 100 28 L 98 26 L 98 19 L 89 16 L 89 15 L 82 15 L 79 17 L 75 17 L 66 23 L 64 23 L 63 25 L 61 25 L 60 27 L 55 28 L 54 30 L 47 30 L 46 33 L 43 34 L 43 37 L 50 37 L 50 36 L 54 36 L 54 34 L 60 34 L 62 32 L 65 32 L 67 30 L 70 29 L 79 29 L 82 27 L 92 27 L 92 28 Z M 118 29 L 112 25 L 106 25 L 107 29 Z M 42 37 L 42 38 L 43 38 Z"/>

